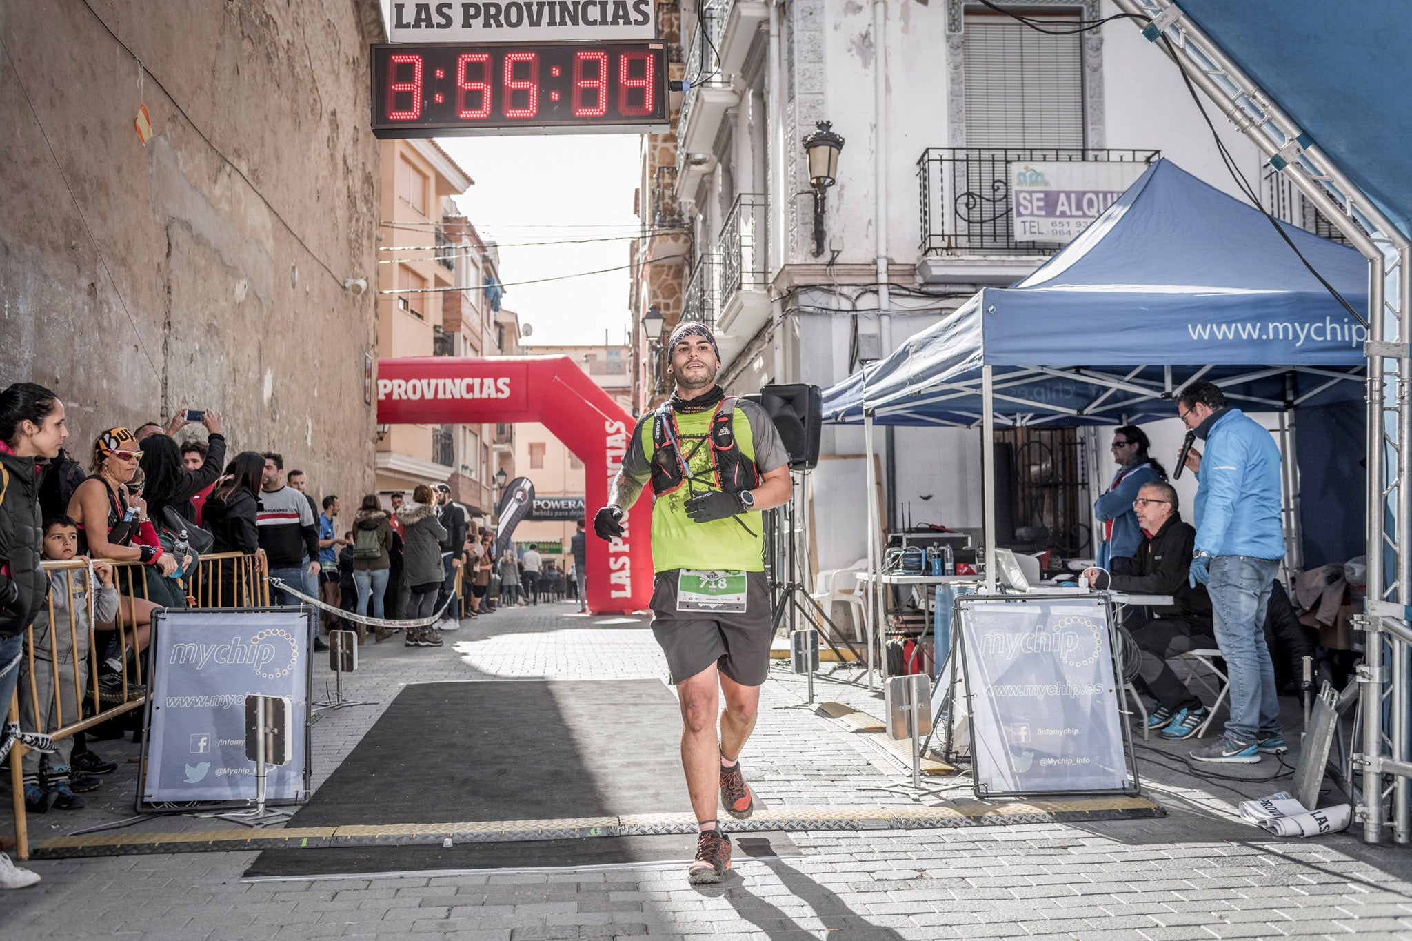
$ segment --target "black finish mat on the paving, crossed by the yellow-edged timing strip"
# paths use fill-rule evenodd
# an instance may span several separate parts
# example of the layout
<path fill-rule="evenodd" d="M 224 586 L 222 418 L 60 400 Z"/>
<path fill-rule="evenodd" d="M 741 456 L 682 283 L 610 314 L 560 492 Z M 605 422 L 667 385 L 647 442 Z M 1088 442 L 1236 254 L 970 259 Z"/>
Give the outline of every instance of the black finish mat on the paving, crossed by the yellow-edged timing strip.
<path fill-rule="evenodd" d="M 657 680 L 414 684 L 289 827 L 689 814 L 681 729 L 676 697 Z M 784 834 L 768 839 L 795 852 Z M 693 851 L 690 835 L 277 849 L 246 875 L 604 865 Z"/>

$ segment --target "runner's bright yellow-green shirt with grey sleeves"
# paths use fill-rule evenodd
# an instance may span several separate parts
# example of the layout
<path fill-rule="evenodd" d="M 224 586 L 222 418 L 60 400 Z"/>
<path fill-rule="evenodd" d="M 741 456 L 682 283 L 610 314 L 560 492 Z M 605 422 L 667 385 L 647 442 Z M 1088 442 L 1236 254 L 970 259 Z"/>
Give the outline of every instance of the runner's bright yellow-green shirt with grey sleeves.
<path fill-rule="evenodd" d="M 726 569 L 733 571 L 764 571 L 764 521 L 760 511 L 744 512 L 709 523 L 692 522 L 686 515 L 686 501 L 706 491 L 720 490 L 710 466 L 710 443 L 706 433 L 714 408 L 702 412 L 678 412 L 676 427 L 682 451 L 693 478 L 674 492 L 657 498 L 652 505 L 652 569 Z M 789 461 L 789 451 L 779 440 L 779 432 L 770 413 L 754 402 L 738 401 L 731 420 L 740 453 L 755 461 L 755 470 L 767 474 Z M 652 412 L 637 423 L 633 443 L 623 456 L 623 474 L 642 484 L 651 492 Z M 744 526 L 741 526 L 744 523 Z M 750 528 L 750 532 L 746 530 Z"/>

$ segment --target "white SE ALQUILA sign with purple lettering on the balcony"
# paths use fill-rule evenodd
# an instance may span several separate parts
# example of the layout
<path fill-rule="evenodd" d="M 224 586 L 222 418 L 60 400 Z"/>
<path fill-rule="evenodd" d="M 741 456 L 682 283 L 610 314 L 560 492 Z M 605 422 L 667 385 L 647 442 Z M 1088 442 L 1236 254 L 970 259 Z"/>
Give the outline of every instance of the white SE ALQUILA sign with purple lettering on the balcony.
<path fill-rule="evenodd" d="M 1072 241 L 1147 171 L 1135 161 L 1008 165 L 1015 241 Z"/>

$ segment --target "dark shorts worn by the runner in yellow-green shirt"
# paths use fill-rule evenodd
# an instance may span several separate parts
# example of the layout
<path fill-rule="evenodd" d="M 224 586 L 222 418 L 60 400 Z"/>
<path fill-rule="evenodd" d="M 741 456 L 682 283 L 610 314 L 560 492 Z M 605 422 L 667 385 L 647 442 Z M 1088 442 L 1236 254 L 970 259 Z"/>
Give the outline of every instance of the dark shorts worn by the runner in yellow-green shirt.
<path fill-rule="evenodd" d="M 746 573 L 744 611 L 678 611 L 679 570 L 657 573 L 652 584 L 652 635 L 666 655 L 672 683 L 714 663 L 741 686 L 761 686 L 770 674 L 770 584 L 765 573 Z"/>

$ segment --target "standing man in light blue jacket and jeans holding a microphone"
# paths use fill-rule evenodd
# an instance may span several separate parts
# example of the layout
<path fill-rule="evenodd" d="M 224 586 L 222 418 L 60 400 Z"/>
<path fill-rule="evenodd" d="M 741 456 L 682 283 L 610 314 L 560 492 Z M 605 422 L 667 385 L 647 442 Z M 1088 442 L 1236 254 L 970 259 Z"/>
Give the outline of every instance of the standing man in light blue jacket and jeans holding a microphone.
<path fill-rule="evenodd" d="M 1210 382 L 1176 398 L 1186 427 L 1206 442 L 1192 449 L 1197 474 L 1196 547 L 1189 580 L 1206 583 L 1216 645 L 1230 677 L 1230 721 L 1216 742 L 1192 752 L 1202 762 L 1251 765 L 1285 749 L 1275 669 L 1265 646 L 1265 607 L 1285 554 L 1281 530 L 1279 449 L 1269 432 Z"/>

